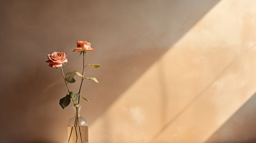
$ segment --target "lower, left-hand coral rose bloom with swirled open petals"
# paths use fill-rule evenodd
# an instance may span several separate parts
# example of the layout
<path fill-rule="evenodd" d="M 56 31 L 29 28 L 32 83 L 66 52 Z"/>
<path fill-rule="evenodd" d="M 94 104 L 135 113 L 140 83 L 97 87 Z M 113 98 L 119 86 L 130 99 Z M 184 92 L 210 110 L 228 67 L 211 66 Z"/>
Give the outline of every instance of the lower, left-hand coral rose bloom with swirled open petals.
<path fill-rule="evenodd" d="M 61 67 L 63 63 L 67 62 L 67 54 L 63 52 L 54 52 L 52 54 L 48 54 L 48 61 L 49 66 L 52 68 Z"/>

